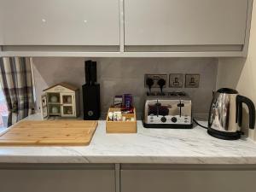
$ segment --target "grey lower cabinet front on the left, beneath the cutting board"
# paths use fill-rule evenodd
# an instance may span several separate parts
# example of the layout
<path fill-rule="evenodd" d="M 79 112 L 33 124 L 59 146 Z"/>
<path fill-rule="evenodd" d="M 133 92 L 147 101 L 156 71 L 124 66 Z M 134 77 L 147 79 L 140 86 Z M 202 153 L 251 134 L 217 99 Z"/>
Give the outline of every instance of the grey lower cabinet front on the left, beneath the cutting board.
<path fill-rule="evenodd" d="M 114 192 L 114 170 L 0 170 L 2 192 Z"/>

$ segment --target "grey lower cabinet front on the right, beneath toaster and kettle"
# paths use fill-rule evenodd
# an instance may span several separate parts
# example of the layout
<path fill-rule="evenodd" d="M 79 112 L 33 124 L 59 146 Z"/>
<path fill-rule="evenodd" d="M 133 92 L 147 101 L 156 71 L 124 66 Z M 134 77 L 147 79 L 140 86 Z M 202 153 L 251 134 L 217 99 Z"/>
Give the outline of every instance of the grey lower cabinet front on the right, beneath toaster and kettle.
<path fill-rule="evenodd" d="M 255 192 L 256 171 L 122 170 L 121 192 Z"/>

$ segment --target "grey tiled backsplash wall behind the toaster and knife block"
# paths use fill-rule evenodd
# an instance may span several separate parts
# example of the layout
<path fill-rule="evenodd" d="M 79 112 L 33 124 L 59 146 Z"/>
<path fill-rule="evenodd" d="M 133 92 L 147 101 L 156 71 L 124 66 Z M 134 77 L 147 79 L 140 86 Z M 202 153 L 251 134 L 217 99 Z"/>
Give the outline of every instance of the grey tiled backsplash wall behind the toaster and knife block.
<path fill-rule="evenodd" d="M 88 58 L 86 58 L 88 59 Z M 37 98 L 52 84 L 84 84 L 84 58 L 33 58 Z M 216 87 L 218 59 L 215 58 L 95 58 L 101 84 L 102 111 L 113 96 L 131 93 L 138 112 L 143 111 L 145 73 L 200 73 L 200 88 L 180 90 L 192 97 L 194 113 L 208 113 L 212 90 Z M 168 88 L 168 90 L 174 90 Z M 81 92 L 81 91 L 80 91 Z M 40 100 L 38 99 L 37 102 Z M 40 105 L 38 105 L 40 106 Z"/>

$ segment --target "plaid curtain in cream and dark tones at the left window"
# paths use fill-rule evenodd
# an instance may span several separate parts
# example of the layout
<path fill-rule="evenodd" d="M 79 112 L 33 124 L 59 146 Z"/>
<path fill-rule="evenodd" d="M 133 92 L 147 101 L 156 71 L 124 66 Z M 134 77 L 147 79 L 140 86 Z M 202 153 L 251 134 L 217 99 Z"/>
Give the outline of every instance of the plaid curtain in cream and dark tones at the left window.
<path fill-rule="evenodd" d="M 8 126 L 34 112 L 32 71 L 29 58 L 0 58 L 0 84 L 8 107 Z"/>

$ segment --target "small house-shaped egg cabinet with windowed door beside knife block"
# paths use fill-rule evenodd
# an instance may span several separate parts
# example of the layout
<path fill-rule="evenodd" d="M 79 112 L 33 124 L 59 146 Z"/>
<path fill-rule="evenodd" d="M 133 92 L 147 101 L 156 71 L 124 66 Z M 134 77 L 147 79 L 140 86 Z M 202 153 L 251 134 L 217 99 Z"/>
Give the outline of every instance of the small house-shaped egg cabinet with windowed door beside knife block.
<path fill-rule="evenodd" d="M 41 113 L 48 118 L 79 117 L 79 88 L 60 83 L 43 90 Z"/>

